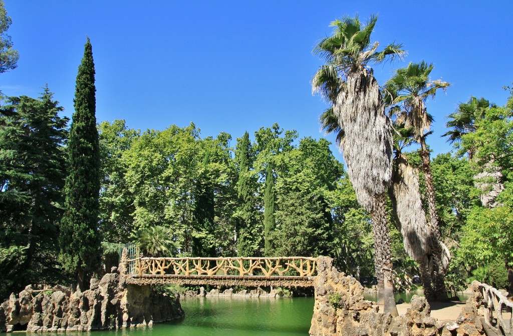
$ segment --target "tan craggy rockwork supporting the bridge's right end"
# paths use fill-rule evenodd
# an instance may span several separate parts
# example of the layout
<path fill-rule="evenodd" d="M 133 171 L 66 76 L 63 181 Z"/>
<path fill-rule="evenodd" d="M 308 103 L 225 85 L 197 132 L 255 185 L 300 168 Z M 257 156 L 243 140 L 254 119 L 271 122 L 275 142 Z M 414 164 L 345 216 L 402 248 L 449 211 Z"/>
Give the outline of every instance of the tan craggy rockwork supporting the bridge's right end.
<path fill-rule="evenodd" d="M 314 336 L 477 336 L 484 334 L 478 318 L 479 298 L 470 299 L 454 322 L 430 316 L 425 298 L 413 295 L 406 314 L 392 317 L 363 297 L 362 285 L 319 257 L 314 280 L 315 303 L 310 327 Z"/>

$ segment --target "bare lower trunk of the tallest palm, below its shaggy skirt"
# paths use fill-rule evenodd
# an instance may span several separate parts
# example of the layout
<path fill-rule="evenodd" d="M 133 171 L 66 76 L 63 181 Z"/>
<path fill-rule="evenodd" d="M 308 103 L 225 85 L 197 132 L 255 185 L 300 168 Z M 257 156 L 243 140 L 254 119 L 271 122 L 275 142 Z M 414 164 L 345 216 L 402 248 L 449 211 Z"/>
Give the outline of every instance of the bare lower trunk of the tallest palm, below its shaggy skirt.
<path fill-rule="evenodd" d="M 386 218 L 386 193 L 374 196 L 372 227 L 374 231 L 374 267 L 378 278 L 378 301 L 384 304 L 384 312 L 398 316 L 393 297 L 392 249 Z"/>

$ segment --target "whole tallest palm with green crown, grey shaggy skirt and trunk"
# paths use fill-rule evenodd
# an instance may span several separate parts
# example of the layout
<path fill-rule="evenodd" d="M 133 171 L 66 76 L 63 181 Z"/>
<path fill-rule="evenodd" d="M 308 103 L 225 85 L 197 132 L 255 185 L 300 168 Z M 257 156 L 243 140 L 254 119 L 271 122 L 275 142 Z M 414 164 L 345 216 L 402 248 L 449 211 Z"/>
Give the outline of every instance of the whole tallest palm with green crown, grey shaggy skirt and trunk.
<path fill-rule="evenodd" d="M 390 44 L 377 51 L 370 43 L 377 17 L 363 26 L 357 17 L 333 21 L 331 36 L 323 38 L 314 53 L 326 61 L 312 80 L 313 93 L 320 93 L 332 105 L 340 132 L 340 147 L 347 173 L 358 202 L 372 213 L 374 266 L 380 281 L 385 311 L 397 314 L 393 300 L 390 239 L 386 220 L 386 192 L 392 169 L 390 120 L 384 113 L 378 81 L 369 67 L 387 58 L 401 56 L 401 45 Z"/>

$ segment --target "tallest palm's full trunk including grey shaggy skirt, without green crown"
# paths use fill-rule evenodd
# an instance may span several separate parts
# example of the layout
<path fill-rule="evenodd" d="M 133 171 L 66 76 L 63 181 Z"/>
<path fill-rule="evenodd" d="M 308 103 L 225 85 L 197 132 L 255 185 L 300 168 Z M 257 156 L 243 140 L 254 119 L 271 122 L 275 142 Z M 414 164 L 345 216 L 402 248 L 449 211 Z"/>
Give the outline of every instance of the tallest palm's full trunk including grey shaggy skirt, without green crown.
<path fill-rule="evenodd" d="M 391 285 L 392 262 L 385 209 L 385 194 L 392 177 L 392 133 L 372 70 L 367 71 L 363 66 L 350 70 L 346 85 L 333 104 L 333 112 L 345 132 L 341 147 L 349 180 L 358 203 L 372 213 L 374 266 L 379 292 L 387 295 L 385 312 L 397 314 Z M 389 279 L 383 276 L 384 267 L 387 272 L 390 270 Z"/>

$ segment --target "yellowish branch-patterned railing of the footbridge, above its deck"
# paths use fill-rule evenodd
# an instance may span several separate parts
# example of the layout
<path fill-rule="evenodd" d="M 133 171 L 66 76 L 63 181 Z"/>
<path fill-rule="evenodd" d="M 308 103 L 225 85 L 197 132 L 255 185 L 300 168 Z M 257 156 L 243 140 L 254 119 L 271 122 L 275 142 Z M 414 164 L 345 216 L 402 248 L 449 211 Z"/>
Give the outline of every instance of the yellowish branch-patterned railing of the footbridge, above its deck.
<path fill-rule="evenodd" d="M 134 276 L 313 276 L 317 258 L 136 258 L 128 261 Z"/>

